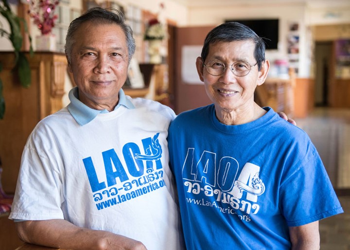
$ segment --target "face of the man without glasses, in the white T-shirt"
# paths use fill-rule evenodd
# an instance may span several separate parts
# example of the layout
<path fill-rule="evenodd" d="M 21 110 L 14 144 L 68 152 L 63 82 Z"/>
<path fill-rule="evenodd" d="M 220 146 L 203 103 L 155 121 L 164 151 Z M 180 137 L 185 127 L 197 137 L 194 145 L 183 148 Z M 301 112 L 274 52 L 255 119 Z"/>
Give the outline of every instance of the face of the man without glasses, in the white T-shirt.
<path fill-rule="evenodd" d="M 128 60 L 119 25 L 84 23 L 74 34 L 69 64 L 79 100 L 93 109 L 113 110 L 127 77 Z"/>

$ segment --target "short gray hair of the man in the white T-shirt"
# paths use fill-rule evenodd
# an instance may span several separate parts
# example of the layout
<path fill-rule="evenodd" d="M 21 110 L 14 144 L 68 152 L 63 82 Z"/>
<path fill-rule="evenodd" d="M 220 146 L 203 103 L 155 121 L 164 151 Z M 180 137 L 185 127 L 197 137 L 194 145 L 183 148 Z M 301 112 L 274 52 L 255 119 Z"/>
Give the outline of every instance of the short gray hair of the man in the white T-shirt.
<path fill-rule="evenodd" d="M 135 53 L 135 39 L 133 37 L 133 31 L 130 26 L 125 23 L 123 12 L 120 10 L 116 10 L 113 8 L 104 9 L 101 7 L 94 7 L 89 9 L 82 16 L 74 19 L 68 28 L 67 36 L 66 36 L 66 45 L 65 45 L 65 53 L 67 56 L 68 63 L 71 62 L 71 50 L 74 44 L 74 34 L 79 29 L 79 27 L 86 23 L 93 22 L 96 24 L 117 24 L 119 25 L 126 37 L 126 44 L 128 47 L 128 56 L 129 62 L 132 56 Z"/>

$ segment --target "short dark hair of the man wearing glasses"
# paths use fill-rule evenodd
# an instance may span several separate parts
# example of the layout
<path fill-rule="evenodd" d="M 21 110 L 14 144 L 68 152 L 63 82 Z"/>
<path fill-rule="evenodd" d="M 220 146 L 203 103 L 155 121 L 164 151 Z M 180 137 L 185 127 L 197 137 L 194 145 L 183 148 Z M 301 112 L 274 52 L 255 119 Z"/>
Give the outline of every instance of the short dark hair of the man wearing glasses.
<path fill-rule="evenodd" d="M 227 22 L 212 29 L 204 40 L 201 57 L 203 63 L 209 54 L 210 44 L 217 42 L 233 42 L 251 40 L 255 43 L 254 57 L 257 60 L 259 70 L 265 61 L 265 42 L 249 27 L 239 22 Z"/>

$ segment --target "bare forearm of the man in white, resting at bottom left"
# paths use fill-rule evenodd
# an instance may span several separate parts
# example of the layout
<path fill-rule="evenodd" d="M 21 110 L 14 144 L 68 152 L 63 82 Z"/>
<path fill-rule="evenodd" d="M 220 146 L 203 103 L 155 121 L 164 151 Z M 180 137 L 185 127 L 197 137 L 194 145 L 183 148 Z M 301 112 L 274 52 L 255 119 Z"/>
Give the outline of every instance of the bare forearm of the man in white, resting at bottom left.
<path fill-rule="evenodd" d="M 101 230 L 73 225 L 67 220 L 27 220 L 16 222 L 24 242 L 70 250 L 146 250 L 139 241 Z"/>

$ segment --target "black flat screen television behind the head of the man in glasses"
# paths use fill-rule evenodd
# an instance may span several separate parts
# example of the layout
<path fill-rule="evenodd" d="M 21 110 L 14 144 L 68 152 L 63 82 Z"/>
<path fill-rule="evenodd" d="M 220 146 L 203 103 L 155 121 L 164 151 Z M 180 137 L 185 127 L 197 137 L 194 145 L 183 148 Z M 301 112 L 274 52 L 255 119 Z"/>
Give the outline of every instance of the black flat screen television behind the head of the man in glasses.
<path fill-rule="evenodd" d="M 277 50 L 279 41 L 279 19 L 228 19 L 225 22 L 240 22 L 260 37 L 264 37 L 266 50 Z"/>

